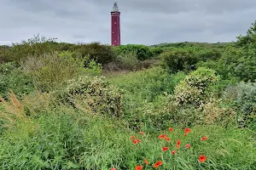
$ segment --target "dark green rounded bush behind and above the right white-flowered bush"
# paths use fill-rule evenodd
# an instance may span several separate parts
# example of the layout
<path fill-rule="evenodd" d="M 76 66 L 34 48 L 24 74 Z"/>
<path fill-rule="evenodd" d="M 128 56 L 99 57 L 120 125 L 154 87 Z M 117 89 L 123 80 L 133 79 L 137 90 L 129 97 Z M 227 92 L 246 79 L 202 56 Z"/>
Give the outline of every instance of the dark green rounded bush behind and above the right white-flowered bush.
<path fill-rule="evenodd" d="M 160 54 L 163 65 L 166 65 L 170 71 L 189 71 L 198 61 L 198 57 L 193 51 L 186 49 L 175 49 Z"/>

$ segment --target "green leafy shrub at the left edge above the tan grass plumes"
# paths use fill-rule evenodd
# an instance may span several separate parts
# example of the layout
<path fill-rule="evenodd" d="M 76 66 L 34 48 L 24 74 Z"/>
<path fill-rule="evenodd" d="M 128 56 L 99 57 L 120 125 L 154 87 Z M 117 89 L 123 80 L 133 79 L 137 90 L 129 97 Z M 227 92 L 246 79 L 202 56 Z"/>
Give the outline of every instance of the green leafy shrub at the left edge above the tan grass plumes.
<path fill-rule="evenodd" d="M 20 99 L 34 90 L 32 77 L 24 74 L 14 62 L 0 65 L 0 96 L 7 99 L 9 89 L 12 89 Z"/>

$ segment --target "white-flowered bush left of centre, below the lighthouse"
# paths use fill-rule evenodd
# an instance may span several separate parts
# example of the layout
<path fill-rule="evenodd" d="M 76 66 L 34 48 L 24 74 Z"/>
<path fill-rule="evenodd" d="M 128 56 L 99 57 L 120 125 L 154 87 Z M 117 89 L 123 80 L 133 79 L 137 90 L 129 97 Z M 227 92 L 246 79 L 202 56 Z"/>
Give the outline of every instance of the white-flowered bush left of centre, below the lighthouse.
<path fill-rule="evenodd" d="M 55 91 L 61 102 L 107 116 L 122 116 L 122 91 L 103 77 L 80 76 L 66 82 L 67 88 Z"/>

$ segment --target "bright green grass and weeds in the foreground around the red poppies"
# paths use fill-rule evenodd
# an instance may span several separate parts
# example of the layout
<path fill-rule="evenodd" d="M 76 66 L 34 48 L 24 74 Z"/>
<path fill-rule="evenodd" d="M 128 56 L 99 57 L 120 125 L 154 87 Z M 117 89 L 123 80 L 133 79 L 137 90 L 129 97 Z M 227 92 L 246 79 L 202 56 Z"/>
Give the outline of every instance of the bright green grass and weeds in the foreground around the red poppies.
<path fill-rule="evenodd" d="M 38 123 L 33 129 L 36 133 L 26 139 L 21 134 L 28 128 L 1 136 L 1 168 L 134 169 L 143 165 L 143 168 L 153 169 L 156 161 L 162 161 L 161 169 L 255 167 L 256 150 L 250 138 L 253 133 L 246 129 L 196 126 L 184 136 L 183 129 L 170 124 L 172 132 L 168 129 L 152 132 L 143 127 L 141 134 L 129 131 L 117 120 L 71 110 L 51 111 L 33 122 Z M 160 139 L 163 133 L 171 141 Z M 140 142 L 134 142 L 131 136 Z M 177 144 L 177 139 L 181 144 Z M 190 144 L 189 148 L 186 144 Z M 163 151 L 165 146 L 168 149 Z M 172 150 L 176 150 L 174 155 Z M 201 155 L 207 160 L 201 162 Z"/>

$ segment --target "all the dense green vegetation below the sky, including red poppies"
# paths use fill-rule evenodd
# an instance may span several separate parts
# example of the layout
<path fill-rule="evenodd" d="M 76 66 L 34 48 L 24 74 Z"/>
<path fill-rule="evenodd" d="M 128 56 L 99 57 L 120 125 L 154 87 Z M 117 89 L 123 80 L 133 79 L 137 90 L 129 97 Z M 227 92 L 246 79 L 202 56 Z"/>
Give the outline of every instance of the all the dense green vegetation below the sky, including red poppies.
<path fill-rule="evenodd" d="M 0 168 L 256 169 L 255 31 L 0 47 Z"/>

